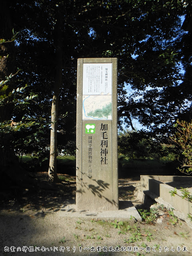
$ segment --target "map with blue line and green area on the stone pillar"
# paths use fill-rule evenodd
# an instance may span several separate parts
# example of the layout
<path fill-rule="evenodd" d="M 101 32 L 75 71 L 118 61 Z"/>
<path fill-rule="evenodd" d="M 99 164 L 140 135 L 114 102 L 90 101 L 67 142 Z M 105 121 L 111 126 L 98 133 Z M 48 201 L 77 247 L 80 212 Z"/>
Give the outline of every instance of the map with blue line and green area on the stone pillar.
<path fill-rule="evenodd" d="M 111 120 L 111 95 L 83 95 L 82 119 Z"/>

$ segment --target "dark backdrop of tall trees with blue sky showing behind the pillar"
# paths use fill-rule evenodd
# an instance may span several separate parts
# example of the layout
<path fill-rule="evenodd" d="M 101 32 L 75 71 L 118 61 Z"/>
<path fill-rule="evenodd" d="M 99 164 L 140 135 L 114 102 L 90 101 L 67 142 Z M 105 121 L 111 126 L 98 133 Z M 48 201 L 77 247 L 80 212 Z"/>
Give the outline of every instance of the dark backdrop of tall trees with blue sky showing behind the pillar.
<path fill-rule="evenodd" d="M 78 58 L 118 58 L 120 129 L 137 119 L 143 134 L 166 143 L 178 118 L 191 120 L 190 0 L 2 0 L 0 10 L 5 180 L 22 173 L 16 152 L 50 158 L 51 180 L 56 148 L 75 153 Z"/>

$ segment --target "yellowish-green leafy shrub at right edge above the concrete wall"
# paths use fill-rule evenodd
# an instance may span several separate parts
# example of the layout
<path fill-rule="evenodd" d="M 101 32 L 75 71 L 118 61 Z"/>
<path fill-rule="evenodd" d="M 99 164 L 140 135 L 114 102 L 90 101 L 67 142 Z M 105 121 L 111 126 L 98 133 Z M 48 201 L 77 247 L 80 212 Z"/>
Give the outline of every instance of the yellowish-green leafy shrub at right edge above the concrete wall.
<path fill-rule="evenodd" d="M 192 174 L 192 121 L 180 122 L 177 120 L 174 126 L 178 131 L 170 139 L 180 146 L 182 155 L 184 156 L 181 168 L 178 167 L 178 170 L 190 175 Z"/>

